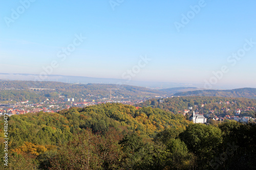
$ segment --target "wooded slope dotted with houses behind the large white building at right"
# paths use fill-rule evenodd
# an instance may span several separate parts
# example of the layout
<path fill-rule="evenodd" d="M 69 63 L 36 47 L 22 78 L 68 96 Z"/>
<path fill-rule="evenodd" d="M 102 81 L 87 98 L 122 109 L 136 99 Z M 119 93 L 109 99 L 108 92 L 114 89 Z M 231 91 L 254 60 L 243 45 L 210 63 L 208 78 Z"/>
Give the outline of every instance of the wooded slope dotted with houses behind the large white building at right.
<path fill-rule="evenodd" d="M 180 96 L 168 99 L 151 99 L 136 104 L 139 107 L 160 108 L 174 113 L 184 112 L 188 107 L 198 109 L 200 113 L 209 114 L 209 111 L 217 115 L 234 115 L 240 109 L 244 116 L 254 116 L 256 100 L 247 98 L 222 98 L 208 96 Z M 203 107 L 202 107 L 203 106 Z M 249 109 L 248 109 L 249 107 Z M 189 110 L 189 109 L 188 109 Z"/>

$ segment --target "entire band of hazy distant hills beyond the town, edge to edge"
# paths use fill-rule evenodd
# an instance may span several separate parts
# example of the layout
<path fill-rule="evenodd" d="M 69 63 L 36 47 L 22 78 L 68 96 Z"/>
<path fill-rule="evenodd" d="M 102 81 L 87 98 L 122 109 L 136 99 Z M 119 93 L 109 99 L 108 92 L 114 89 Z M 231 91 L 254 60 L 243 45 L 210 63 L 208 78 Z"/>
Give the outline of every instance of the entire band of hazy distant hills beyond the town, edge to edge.
<path fill-rule="evenodd" d="M 55 90 L 32 91 L 29 88 L 49 88 Z M 32 103 L 44 102 L 46 99 L 59 100 L 59 96 L 66 98 L 98 100 L 110 98 L 110 89 L 113 96 L 131 98 L 155 98 L 155 96 L 222 96 L 228 98 L 256 99 L 255 88 L 241 88 L 233 90 L 195 90 L 195 87 L 175 87 L 161 90 L 152 90 L 145 87 L 116 85 L 116 84 L 70 84 L 61 82 L 36 81 L 3 81 L 0 80 L 0 102 L 26 101 Z M 194 90 L 194 91 L 188 91 Z M 179 92 L 186 91 L 186 92 Z M 178 93 L 177 93 L 178 92 Z"/>

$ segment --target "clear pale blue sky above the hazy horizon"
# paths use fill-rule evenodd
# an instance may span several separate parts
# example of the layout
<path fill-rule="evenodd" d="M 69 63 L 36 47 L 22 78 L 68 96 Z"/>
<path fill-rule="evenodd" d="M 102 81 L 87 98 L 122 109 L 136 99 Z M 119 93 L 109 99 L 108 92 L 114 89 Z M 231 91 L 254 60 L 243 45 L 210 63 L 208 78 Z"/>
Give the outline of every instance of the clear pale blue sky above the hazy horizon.
<path fill-rule="evenodd" d="M 256 87 L 253 0 L 2 0 L 0 11 L 0 72 Z"/>

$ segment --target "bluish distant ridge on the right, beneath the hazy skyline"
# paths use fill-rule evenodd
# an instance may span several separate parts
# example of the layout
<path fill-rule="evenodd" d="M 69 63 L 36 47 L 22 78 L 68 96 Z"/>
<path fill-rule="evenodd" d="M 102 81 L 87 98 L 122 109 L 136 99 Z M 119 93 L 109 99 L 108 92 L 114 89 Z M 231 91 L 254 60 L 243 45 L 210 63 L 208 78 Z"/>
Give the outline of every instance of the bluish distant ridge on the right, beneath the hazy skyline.
<path fill-rule="evenodd" d="M 219 96 L 225 98 L 249 98 L 256 99 L 256 88 L 238 88 L 232 90 L 195 90 L 177 92 L 176 96 Z"/>

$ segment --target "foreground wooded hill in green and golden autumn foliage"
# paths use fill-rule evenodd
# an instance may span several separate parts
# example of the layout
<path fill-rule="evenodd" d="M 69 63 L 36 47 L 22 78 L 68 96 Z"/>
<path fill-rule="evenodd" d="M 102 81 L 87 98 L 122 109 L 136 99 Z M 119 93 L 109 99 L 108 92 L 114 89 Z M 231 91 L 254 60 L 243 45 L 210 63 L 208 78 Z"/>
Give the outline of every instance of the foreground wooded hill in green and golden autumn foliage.
<path fill-rule="evenodd" d="M 254 169 L 255 134 L 255 125 L 193 124 L 181 114 L 122 104 L 27 113 L 8 118 L 9 166 L 2 157 L 1 167 Z"/>

